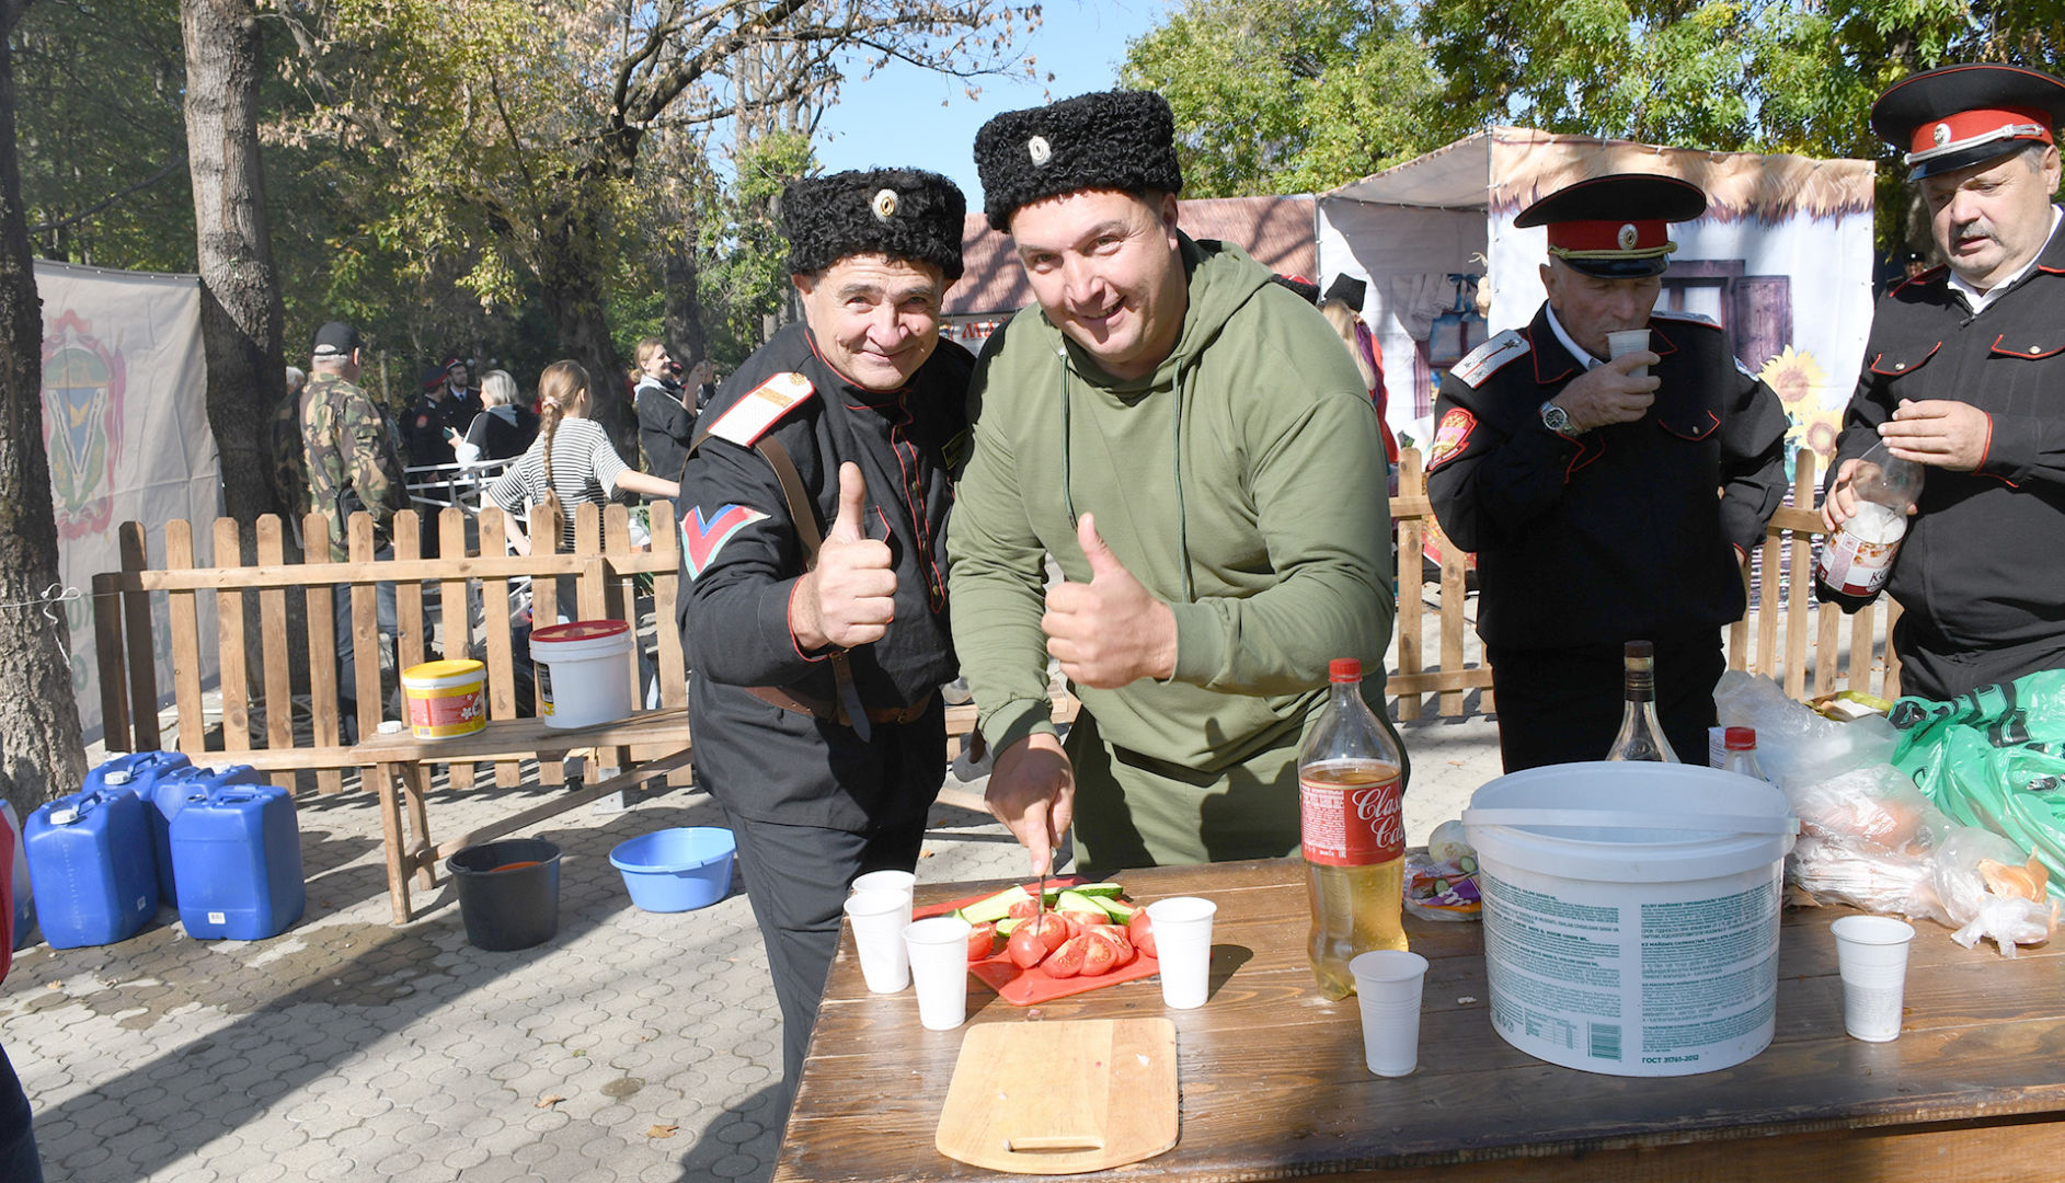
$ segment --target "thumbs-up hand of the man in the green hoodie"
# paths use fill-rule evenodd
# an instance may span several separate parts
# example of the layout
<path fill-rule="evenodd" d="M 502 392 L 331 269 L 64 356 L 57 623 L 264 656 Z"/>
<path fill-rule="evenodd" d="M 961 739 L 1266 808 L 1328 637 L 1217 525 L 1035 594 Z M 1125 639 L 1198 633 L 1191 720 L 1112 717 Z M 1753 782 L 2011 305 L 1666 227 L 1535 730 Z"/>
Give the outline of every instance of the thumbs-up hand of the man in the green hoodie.
<path fill-rule="evenodd" d="M 1175 613 L 1148 595 L 1082 514 L 1076 541 L 1090 564 L 1090 582 L 1061 582 L 1047 593 L 1047 652 L 1080 685 L 1115 690 L 1142 677 L 1175 673 Z"/>

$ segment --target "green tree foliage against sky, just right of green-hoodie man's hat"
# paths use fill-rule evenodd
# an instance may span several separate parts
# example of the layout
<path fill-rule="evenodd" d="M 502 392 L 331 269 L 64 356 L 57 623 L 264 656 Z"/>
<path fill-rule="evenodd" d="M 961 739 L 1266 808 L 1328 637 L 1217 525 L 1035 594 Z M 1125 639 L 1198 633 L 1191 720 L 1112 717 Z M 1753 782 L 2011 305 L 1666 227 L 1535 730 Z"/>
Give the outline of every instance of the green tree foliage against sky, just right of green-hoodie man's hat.
<path fill-rule="evenodd" d="M 1388 0 L 1187 0 L 1127 45 L 1121 81 L 1169 99 L 1185 196 L 1317 192 L 1441 142 Z"/>

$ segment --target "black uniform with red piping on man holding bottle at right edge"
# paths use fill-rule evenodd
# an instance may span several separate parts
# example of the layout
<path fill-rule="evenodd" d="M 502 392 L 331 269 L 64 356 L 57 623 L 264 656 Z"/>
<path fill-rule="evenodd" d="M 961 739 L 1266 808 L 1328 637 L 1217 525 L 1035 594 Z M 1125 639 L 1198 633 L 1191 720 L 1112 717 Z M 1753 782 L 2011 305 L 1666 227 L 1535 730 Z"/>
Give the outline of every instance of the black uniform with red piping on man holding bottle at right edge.
<path fill-rule="evenodd" d="M 2065 665 L 2065 233 L 1978 316 L 1947 268 L 1879 299 L 1830 475 L 1904 398 L 1970 403 L 1991 438 L 1978 471 L 1923 479 L 1885 584 L 1900 688 L 1941 700 Z"/>

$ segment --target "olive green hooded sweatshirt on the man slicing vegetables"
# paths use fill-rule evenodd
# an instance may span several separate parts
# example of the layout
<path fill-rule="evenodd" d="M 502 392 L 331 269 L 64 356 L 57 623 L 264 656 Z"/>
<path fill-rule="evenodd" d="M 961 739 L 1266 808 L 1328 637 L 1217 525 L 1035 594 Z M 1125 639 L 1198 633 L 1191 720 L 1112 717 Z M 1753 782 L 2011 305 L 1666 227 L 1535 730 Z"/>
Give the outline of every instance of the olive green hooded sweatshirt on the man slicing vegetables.
<path fill-rule="evenodd" d="M 1078 688 L 1121 764 L 1200 782 L 1295 749 L 1336 657 L 1363 661 L 1384 710 L 1390 504 L 1361 374 L 1326 318 L 1239 248 L 1179 250 L 1189 308 L 1150 378 L 1105 376 L 1039 308 L 977 363 L 948 553 L 954 646 L 997 752 L 1053 729 L 1043 555 L 1090 578 L 1084 512 L 1177 621 L 1175 677 Z"/>

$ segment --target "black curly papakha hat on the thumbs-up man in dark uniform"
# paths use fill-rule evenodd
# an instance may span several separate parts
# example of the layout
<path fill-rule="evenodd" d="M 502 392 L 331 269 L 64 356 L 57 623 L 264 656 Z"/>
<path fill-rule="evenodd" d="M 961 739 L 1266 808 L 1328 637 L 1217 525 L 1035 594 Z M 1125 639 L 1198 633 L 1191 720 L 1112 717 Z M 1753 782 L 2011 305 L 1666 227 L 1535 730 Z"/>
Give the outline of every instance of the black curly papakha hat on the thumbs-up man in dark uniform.
<path fill-rule="evenodd" d="M 968 198 L 923 169 L 855 169 L 799 178 L 781 192 L 789 270 L 809 275 L 849 254 L 880 252 L 929 262 L 960 279 L 960 231 Z"/>

